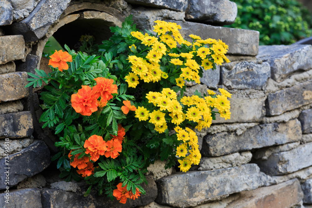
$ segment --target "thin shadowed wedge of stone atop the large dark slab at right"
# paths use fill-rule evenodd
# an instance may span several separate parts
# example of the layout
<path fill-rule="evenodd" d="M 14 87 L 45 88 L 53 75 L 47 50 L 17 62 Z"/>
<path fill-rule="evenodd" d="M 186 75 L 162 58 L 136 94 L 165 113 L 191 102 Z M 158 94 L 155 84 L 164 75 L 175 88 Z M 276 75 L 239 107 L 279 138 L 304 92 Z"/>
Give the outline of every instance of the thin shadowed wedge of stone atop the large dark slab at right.
<path fill-rule="evenodd" d="M 283 145 L 278 145 L 278 146 L 261 148 L 261 149 L 258 149 L 253 154 L 253 156 L 255 159 L 267 160 L 268 157 L 271 156 L 271 154 L 279 153 L 279 152 L 286 152 L 286 151 L 289 151 L 289 150 L 292 150 L 294 148 L 299 147 L 299 145 L 300 145 L 300 141 L 293 142 L 293 143 L 287 143 L 287 144 L 283 144 Z"/>

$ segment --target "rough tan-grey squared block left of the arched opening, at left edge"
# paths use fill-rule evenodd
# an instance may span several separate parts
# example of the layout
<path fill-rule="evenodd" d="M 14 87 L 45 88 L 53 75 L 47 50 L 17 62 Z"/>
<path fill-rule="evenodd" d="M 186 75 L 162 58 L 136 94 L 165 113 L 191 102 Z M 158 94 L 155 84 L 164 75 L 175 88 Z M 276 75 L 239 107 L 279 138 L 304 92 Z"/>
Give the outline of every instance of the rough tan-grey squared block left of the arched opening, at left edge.
<path fill-rule="evenodd" d="M 22 35 L 0 36 L 0 64 L 24 58 L 25 41 Z"/>

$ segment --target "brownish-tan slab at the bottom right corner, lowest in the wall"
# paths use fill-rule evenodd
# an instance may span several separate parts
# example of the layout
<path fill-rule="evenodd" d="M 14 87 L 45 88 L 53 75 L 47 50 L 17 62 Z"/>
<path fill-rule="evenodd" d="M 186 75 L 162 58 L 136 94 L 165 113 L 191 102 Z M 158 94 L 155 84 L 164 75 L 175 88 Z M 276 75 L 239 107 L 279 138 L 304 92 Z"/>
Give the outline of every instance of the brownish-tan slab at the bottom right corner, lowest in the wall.
<path fill-rule="evenodd" d="M 242 191 L 241 196 L 228 208 L 292 207 L 300 203 L 303 192 L 298 179 L 278 185 Z"/>

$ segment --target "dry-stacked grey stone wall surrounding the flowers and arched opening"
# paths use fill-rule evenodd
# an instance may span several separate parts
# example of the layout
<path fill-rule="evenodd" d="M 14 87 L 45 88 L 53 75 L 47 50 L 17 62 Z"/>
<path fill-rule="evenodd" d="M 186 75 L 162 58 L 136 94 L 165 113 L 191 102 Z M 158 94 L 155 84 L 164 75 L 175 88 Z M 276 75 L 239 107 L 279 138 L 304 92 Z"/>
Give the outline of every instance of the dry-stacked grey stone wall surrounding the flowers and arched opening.
<path fill-rule="evenodd" d="M 123 205 L 95 191 L 83 197 L 85 183 L 58 178 L 50 160 L 56 138 L 38 122 L 40 89 L 24 86 L 26 72 L 46 67 L 41 55 L 49 37 L 70 42 L 61 34 L 79 26 L 79 36 L 89 31 L 102 40 L 129 14 L 140 29 L 168 20 L 181 25 L 185 38 L 226 42 L 231 62 L 205 71 L 185 94 L 225 88 L 233 95 L 231 119 L 217 118 L 198 132 L 200 164 L 181 173 L 155 162 L 147 194 Z M 2 0 L 0 207 L 311 207 L 312 46 L 259 46 L 259 32 L 222 27 L 236 14 L 228 0 Z"/>

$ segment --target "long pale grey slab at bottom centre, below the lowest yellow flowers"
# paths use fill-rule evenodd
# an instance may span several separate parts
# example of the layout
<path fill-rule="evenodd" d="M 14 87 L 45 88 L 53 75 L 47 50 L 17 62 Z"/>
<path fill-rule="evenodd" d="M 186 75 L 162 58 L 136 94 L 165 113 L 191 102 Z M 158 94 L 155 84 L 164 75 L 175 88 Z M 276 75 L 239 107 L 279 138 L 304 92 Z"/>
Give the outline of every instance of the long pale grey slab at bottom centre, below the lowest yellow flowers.
<path fill-rule="evenodd" d="M 256 189 L 263 184 L 260 175 L 256 164 L 171 175 L 157 181 L 155 201 L 176 207 L 197 206 L 232 193 Z"/>

